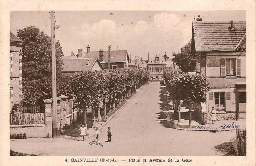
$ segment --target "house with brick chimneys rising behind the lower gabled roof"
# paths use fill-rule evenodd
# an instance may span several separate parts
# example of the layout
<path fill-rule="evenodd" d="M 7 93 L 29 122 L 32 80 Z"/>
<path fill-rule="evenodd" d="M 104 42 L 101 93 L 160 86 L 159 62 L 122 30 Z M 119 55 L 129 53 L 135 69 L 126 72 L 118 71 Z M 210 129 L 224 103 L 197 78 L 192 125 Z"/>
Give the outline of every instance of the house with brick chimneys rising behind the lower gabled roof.
<path fill-rule="evenodd" d="M 84 59 L 97 58 L 104 69 L 108 69 L 108 53 L 110 69 L 126 68 L 129 63 L 129 53 L 127 50 L 111 50 L 111 51 L 90 51 L 90 46 L 86 47 L 86 52 L 82 48 L 78 48 L 76 56 L 64 56 L 63 59 Z"/>

